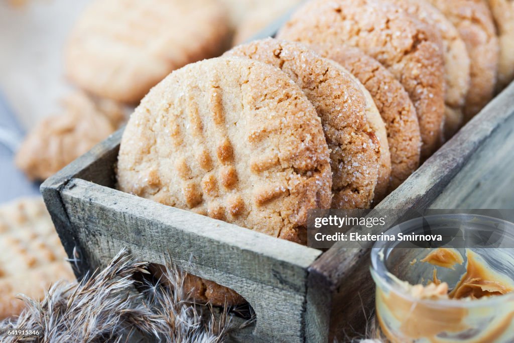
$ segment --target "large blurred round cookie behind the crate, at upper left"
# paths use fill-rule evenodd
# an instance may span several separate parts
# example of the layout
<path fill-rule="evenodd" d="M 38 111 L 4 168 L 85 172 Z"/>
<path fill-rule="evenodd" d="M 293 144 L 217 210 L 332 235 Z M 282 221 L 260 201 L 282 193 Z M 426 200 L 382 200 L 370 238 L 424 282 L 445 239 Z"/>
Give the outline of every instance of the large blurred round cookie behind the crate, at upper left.
<path fill-rule="evenodd" d="M 96 0 L 71 32 L 68 78 L 98 96 L 135 103 L 172 70 L 228 43 L 215 0 Z"/>

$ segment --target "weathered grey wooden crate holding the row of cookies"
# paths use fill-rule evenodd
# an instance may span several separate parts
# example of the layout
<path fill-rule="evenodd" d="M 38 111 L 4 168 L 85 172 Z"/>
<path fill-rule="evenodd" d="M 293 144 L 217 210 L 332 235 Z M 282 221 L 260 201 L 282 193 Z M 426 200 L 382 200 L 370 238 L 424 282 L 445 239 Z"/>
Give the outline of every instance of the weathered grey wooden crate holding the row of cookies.
<path fill-rule="evenodd" d="M 512 208 L 514 84 L 446 143 L 379 208 Z M 234 341 L 323 342 L 364 328 L 374 307 L 368 248 L 322 252 L 113 188 L 119 131 L 41 186 L 81 276 L 122 248 L 230 287 L 256 323 Z"/>

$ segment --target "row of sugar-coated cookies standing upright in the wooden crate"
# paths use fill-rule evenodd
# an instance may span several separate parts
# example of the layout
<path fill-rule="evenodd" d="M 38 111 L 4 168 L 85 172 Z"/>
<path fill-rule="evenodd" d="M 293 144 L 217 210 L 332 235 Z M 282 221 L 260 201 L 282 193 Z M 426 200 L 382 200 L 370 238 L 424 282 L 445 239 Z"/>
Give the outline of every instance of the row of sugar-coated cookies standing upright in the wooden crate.
<path fill-rule="evenodd" d="M 485 2 L 312 0 L 277 39 L 153 87 L 123 134 L 118 188 L 305 244 L 309 209 L 375 206 L 491 99 L 498 63 Z"/>

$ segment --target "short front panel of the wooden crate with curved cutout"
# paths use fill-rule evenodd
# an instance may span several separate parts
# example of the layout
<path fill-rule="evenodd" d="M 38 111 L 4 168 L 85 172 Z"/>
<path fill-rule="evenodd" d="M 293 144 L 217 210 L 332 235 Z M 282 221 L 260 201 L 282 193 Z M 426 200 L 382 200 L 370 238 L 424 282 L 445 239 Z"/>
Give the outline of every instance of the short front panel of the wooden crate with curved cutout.
<path fill-rule="evenodd" d="M 61 196 L 72 225 L 58 230 L 74 237 L 89 268 L 102 266 L 123 247 L 152 263 L 170 256 L 187 272 L 249 301 L 257 321 L 247 341 L 303 341 L 307 267 L 319 250 L 81 179 L 70 180 Z"/>

